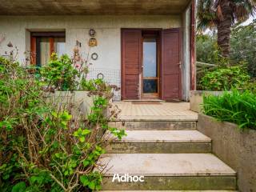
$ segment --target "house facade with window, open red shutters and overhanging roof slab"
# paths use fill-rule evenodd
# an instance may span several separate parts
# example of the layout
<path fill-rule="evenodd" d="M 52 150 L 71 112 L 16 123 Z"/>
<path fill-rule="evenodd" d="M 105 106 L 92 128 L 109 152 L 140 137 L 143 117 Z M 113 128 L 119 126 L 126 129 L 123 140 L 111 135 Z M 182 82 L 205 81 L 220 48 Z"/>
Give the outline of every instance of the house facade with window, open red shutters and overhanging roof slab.
<path fill-rule="evenodd" d="M 116 100 L 188 101 L 195 89 L 194 1 L 0 1 L 0 54 L 43 66 L 50 53 L 88 57 L 89 78 Z M 90 46 L 88 45 L 90 42 Z"/>

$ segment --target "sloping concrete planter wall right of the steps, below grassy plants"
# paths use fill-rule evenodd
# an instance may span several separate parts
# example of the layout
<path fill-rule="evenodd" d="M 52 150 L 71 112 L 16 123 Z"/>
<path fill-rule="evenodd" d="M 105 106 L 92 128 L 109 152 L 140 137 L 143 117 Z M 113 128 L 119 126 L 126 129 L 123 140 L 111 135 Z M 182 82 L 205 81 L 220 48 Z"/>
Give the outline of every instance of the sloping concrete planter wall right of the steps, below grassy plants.
<path fill-rule="evenodd" d="M 238 190 L 256 191 L 256 130 L 198 115 L 198 130 L 212 139 L 213 152 L 238 173 Z"/>

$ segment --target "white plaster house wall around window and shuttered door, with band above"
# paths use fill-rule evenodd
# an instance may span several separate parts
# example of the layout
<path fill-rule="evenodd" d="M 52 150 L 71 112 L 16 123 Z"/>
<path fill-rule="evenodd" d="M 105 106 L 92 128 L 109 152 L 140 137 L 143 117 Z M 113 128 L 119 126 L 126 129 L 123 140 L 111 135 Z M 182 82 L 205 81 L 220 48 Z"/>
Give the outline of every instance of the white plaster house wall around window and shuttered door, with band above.
<path fill-rule="evenodd" d="M 25 52 L 30 49 L 30 31 L 66 31 L 66 54 L 73 53 L 76 40 L 82 43 L 84 56 L 96 52 L 98 60 L 92 61 L 94 74 L 101 69 L 109 82 L 120 86 L 121 28 L 162 28 L 182 26 L 182 15 L 134 15 L 134 16 L 0 16 L 0 54 L 10 50 L 12 42 L 18 47 L 18 60 L 25 62 Z M 98 46 L 87 45 L 90 28 L 96 30 Z M 120 98 L 118 93 L 117 99 Z"/>

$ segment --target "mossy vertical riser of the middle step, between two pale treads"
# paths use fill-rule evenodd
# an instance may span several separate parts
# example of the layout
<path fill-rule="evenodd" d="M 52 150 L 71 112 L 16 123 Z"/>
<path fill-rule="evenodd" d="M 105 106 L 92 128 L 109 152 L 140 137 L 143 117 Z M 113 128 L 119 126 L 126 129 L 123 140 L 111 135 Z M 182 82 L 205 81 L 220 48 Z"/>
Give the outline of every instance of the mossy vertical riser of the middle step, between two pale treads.
<path fill-rule="evenodd" d="M 210 153 L 210 142 L 194 143 L 168 143 L 168 142 L 115 142 L 107 146 L 109 154 L 185 154 L 185 153 Z"/>

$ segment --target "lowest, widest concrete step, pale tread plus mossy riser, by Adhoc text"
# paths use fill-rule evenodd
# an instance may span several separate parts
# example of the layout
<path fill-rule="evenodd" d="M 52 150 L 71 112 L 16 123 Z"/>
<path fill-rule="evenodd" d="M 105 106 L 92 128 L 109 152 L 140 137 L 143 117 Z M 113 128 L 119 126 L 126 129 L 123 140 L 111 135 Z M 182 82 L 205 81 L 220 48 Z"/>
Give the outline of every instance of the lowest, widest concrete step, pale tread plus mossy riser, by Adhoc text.
<path fill-rule="evenodd" d="M 105 154 L 98 165 L 102 190 L 236 190 L 236 173 L 213 154 Z M 112 182 L 114 174 L 144 182 Z"/>

